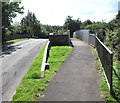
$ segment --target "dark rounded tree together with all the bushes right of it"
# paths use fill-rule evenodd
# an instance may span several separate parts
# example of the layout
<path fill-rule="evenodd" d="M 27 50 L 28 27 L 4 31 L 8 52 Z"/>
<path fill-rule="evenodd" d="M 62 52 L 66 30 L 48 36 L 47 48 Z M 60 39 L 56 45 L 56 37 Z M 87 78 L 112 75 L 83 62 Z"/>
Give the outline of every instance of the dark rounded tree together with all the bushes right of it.
<path fill-rule="evenodd" d="M 86 20 L 81 22 L 79 19 L 74 20 L 68 16 L 63 25 L 65 30 L 70 30 L 71 35 L 76 30 L 89 30 L 95 34 L 111 51 L 114 52 L 115 58 L 120 61 L 120 11 L 110 22 L 92 22 Z"/>

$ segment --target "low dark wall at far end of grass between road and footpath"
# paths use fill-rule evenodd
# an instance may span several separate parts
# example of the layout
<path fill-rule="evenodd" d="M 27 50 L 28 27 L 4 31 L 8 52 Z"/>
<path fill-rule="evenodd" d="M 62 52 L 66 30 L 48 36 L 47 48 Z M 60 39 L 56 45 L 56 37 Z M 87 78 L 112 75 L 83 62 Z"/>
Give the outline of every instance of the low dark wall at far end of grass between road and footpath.
<path fill-rule="evenodd" d="M 49 35 L 50 44 L 53 46 L 70 45 L 69 35 Z"/>

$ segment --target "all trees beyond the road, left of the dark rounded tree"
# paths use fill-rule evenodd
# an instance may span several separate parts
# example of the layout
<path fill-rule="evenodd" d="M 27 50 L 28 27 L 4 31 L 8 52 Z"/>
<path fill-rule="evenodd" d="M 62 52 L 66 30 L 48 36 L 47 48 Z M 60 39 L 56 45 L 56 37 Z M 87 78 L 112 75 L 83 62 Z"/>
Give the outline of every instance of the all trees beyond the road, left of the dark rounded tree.
<path fill-rule="evenodd" d="M 37 19 L 35 13 L 28 11 L 27 15 L 19 22 L 13 23 L 17 14 L 23 14 L 24 7 L 20 2 L 2 2 L 2 42 L 7 36 L 15 34 L 30 34 L 31 37 L 47 38 L 51 32 L 61 34 L 62 26 L 43 25 Z"/>

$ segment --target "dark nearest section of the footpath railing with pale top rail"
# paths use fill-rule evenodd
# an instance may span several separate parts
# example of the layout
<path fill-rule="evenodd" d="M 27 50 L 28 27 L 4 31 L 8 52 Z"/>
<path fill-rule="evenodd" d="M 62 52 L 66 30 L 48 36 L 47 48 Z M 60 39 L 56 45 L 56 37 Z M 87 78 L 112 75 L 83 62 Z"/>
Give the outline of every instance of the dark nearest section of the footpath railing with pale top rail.
<path fill-rule="evenodd" d="M 102 67 L 104 68 L 107 84 L 112 93 L 112 69 L 113 69 L 113 53 L 96 37 L 96 49 L 100 58 Z"/>

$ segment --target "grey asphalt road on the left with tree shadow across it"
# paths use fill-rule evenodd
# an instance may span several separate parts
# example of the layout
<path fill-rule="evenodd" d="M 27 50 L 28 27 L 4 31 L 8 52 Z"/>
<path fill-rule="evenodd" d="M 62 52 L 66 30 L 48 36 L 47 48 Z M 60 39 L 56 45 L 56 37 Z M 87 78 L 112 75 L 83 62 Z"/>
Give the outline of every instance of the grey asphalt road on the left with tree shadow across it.
<path fill-rule="evenodd" d="M 3 47 L 0 57 L 0 62 L 2 62 L 2 101 L 10 101 L 16 87 L 46 41 L 47 39 L 28 39 Z"/>

